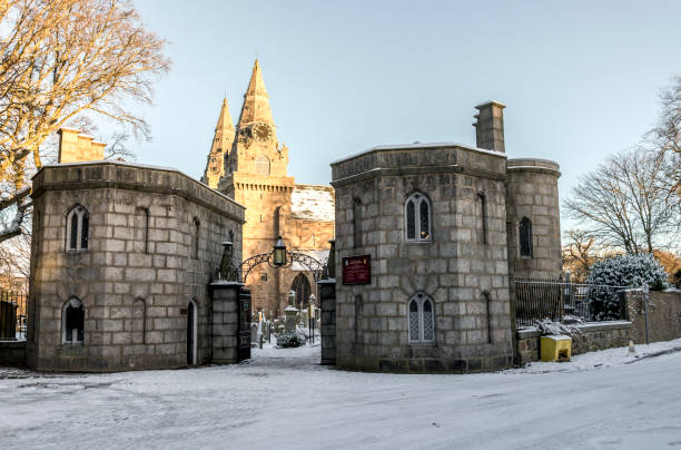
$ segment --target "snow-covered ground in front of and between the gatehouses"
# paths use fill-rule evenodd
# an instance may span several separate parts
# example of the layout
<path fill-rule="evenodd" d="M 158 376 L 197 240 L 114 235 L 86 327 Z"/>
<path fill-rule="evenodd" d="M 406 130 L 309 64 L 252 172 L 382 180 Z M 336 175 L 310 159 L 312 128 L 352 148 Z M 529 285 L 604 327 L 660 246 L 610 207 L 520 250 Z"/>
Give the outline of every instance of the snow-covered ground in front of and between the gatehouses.
<path fill-rule="evenodd" d="M 679 350 L 474 375 L 338 371 L 318 346 L 176 371 L 0 369 L 0 448 L 681 449 Z"/>

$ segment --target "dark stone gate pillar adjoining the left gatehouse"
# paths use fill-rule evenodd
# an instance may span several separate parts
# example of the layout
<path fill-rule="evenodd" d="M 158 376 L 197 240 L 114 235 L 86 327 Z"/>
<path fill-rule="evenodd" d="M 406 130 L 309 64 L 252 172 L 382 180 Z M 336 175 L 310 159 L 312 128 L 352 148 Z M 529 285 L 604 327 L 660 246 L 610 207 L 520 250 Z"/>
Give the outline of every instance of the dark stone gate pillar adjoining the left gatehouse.
<path fill-rule="evenodd" d="M 210 283 L 213 297 L 213 363 L 238 362 L 239 293 L 244 283 Z"/>

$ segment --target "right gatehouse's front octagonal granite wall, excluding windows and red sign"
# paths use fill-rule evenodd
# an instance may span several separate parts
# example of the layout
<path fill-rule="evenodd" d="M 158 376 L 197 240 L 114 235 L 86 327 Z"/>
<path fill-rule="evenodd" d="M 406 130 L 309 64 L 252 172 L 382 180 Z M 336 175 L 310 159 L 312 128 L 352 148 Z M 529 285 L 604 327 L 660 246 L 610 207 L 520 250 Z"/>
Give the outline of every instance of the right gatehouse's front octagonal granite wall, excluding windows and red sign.
<path fill-rule="evenodd" d="M 371 255 L 372 270 L 371 284 L 354 286 L 343 284 L 338 270 L 337 365 L 398 372 L 509 366 L 505 156 L 415 144 L 375 147 L 332 164 L 332 170 L 337 261 Z M 405 241 L 404 207 L 414 192 L 431 200 L 432 242 Z M 361 246 L 353 236 L 355 199 Z M 408 342 L 407 302 L 417 293 L 435 303 L 434 343 Z"/>

